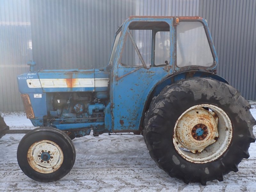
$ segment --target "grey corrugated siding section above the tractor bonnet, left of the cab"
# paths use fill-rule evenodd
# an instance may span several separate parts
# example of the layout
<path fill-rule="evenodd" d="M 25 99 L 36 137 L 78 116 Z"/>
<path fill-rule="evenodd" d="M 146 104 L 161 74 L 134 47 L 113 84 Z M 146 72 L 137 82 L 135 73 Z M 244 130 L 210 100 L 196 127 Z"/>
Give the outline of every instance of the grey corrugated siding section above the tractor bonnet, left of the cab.
<path fill-rule="evenodd" d="M 108 64 L 118 26 L 134 1 L 30 1 L 37 69 L 99 68 Z"/>

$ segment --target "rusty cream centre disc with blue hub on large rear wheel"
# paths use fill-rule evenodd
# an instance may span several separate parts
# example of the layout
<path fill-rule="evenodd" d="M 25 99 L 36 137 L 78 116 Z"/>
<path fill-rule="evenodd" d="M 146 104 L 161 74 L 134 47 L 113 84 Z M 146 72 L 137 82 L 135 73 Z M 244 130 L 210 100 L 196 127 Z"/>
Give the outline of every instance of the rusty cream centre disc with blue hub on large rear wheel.
<path fill-rule="evenodd" d="M 176 142 L 181 148 L 200 153 L 219 137 L 218 116 L 202 107 L 189 110 L 181 116 L 176 129 Z"/>

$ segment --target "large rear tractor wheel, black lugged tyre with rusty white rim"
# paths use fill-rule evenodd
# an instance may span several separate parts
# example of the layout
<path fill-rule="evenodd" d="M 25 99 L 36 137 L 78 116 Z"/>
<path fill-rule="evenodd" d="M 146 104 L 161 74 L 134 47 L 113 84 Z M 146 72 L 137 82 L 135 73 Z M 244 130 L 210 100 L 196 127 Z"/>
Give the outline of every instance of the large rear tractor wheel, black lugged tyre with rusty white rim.
<path fill-rule="evenodd" d="M 156 164 L 185 183 L 238 171 L 255 141 L 250 104 L 228 84 L 191 78 L 165 87 L 145 115 L 144 139 Z"/>

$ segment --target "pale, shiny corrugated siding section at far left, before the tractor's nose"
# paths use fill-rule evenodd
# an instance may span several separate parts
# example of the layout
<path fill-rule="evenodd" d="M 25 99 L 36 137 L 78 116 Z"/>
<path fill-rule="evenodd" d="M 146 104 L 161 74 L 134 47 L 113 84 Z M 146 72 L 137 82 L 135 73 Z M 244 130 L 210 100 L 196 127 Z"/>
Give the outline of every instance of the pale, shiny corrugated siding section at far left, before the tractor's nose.
<path fill-rule="evenodd" d="M 17 75 L 32 59 L 29 1 L 0 1 L 0 111 L 23 110 Z"/>

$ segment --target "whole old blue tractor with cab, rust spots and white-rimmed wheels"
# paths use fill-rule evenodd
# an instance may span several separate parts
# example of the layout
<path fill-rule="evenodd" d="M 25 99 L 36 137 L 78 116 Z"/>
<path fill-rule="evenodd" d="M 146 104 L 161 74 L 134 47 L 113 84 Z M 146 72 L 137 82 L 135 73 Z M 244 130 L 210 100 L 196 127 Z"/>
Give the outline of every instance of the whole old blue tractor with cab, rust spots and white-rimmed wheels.
<path fill-rule="evenodd" d="M 150 156 L 185 183 L 238 171 L 255 141 L 250 104 L 216 75 L 218 58 L 201 17 L 131 16 L 117 30 L 108 65 L 38 70 L 17 77 L 36 127 L 17 159 L 31 179 L 56 181 L 73 167 L 72 139 L 142 134 Z M 0 136 L 9 130 L 1 118 Z"/>

